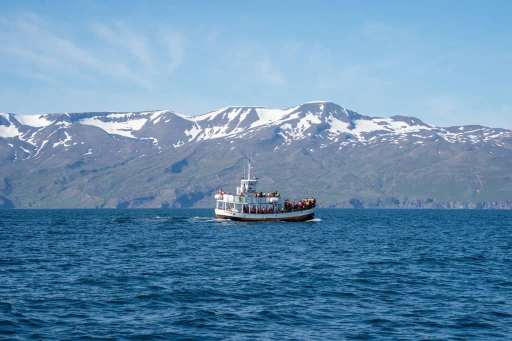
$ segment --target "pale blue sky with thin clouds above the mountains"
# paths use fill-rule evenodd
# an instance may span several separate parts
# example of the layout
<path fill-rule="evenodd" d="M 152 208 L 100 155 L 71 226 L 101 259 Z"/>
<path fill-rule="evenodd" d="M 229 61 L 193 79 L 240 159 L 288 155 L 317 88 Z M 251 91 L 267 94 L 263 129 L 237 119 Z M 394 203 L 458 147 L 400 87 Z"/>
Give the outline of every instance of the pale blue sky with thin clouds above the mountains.
<path fill-rule="evenodd" d="M 287 108 L 512 129 L 512 3 L 0 2 L 0 111 Z"/>

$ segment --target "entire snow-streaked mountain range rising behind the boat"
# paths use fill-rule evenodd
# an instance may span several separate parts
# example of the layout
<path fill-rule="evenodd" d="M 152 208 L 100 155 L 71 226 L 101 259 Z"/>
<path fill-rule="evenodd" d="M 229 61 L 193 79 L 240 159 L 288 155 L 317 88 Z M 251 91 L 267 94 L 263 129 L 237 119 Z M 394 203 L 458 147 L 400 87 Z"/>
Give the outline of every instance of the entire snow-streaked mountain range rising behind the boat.
<path fill-rule="evenodd" d="M 247 148 L 262 185 L 317 187 L 324 207 L 511 206 L 512 131 L 314 101 L 200 116 L 0 113 L 0 207 L 209 207 L 218 187 L 236 186 Z"/>

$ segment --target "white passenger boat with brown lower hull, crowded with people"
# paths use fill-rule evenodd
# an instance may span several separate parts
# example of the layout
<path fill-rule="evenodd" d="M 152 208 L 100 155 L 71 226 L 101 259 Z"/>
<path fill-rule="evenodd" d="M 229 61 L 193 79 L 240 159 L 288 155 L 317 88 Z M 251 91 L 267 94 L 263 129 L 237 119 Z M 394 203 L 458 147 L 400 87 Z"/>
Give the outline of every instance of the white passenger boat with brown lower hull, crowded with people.
<path fill-rule="evenodd" d="M 282 200 L 279 192 L 257 192 L 258 178 L 251 177 L 251 164 L 248 176 L 240 181 L 236 194 L 224 192 L 222 189 L 215 195 L 217 218 L 240 221 L 306 221 L 315 215 L 315 198 L 300 201 Z"/>

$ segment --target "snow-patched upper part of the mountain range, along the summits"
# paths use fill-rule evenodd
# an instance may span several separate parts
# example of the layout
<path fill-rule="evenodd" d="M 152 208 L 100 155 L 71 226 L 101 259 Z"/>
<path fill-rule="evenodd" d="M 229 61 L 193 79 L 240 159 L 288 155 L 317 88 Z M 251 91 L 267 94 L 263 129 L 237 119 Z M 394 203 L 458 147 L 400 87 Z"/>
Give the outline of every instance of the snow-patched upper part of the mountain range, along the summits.
<path fill-rule="evenodd" d="M 322 147 L 376 143 L 420 143 L 443 140 L 478 144 L 510 137 L 510 131 L 482 126 L 441 128 L 413 117 L 378 118 L 359 115 L 330 102 L 310 102 L 288 109 L 225 107 L 201 116 L 185 116 L 169 110 L 145 112 L 88 112 L 40 116 L 0 113 L 0 137 L 17 138 L 37 153 L 45 147 L 72 147 L 67 131 L 93 126 L 117 139 L 150 142 L 157 148 L 177 148 L 184 144 L 218 138 L 246 138 L 269 128 L 287 143 L 314 137 Z M 45 141 L 61 131 L 53 144 Z M 78 132 L 78 131 L 77 131 Z M 79 134 L 79 132 L 78 132 Z M 70 142 L 71 144 L 67 145 Z M 30 147 L 29 146 L 29 147 Z"/>

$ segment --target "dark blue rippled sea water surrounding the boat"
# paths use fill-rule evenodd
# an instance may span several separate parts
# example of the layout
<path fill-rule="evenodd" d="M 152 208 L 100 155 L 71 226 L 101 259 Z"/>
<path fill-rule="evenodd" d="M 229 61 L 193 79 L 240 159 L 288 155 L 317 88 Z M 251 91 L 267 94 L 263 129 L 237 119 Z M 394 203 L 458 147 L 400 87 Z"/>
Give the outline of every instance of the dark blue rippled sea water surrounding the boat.
<path fill-rule="evenodd" d="M 512 212 L 0 211 L 0 339 L 512 339 Z"/>

